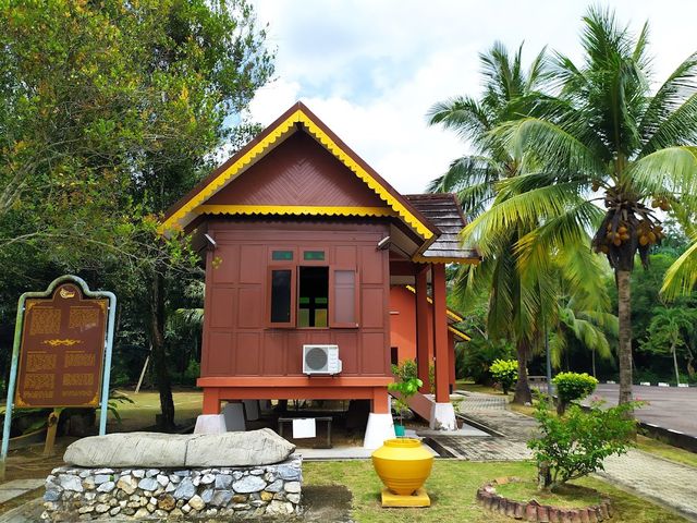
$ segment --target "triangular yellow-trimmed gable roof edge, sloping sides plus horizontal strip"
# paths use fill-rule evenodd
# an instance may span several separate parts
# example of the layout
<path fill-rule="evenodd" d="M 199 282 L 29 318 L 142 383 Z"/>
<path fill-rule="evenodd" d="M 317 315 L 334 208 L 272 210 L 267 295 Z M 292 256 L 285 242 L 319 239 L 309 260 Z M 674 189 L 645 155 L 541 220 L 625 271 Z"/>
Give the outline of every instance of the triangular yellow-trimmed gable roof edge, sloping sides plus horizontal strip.
<path fill-rule="evenodd" d="M 255 208 L 235 208 L 216 206 L 207 208 L 206 202 L 227 186 L 237 177 L 243 175 L 248 168 L 268 155 L 276 146 L 301 129 L 313 136 L 321 146 L 331 153 L 337 160 L 347 167 L 367 188 L 382 199 L 387 207 L 378 212 L 376 208 L 344 208 L 344 207 L 276 207 L 258 206 Z M 241 207 L 241 206 L 236 206 Z M 430 244 L 440 230 L 433 226 L 404 196 L 398 193 L 372 168 L 346 146 L 321 120 L 319 120 L 305 105 L 296 102 L 278 120 L 269 125 L 261 134 L 254 138 L 243 149 L 216 169 L 210 175 L 198 183 L 183 198 L 170 207 L 164 215 L 159 231 L 168 234 L 172 229 L 186 228 L 194 219 L 206 212 L 212 214 L 286 214 L 286 215 L 323 215 L 323 216 L 394 216 L 412 229 L 421 239 L 425 246 Z"/>

